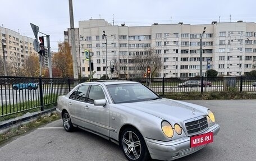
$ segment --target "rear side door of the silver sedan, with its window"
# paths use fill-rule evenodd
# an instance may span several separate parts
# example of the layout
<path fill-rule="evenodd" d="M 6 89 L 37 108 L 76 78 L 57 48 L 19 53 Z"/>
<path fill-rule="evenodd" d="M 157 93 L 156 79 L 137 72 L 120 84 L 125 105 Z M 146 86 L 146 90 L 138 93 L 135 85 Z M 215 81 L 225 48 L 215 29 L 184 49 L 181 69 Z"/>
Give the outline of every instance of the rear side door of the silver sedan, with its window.
<path fill-rule="evenodd" d="M 68 100 L 68 110 L 70 112 L 71 121 L 75 125 L 84 126 L 84 113 L 86 111 L 85 105 L 88 101 L 88 98 L 86 98 L 86 94 L 88 93 L 90 85 L 81 85 L 79 86 L 69 97 Z"/>

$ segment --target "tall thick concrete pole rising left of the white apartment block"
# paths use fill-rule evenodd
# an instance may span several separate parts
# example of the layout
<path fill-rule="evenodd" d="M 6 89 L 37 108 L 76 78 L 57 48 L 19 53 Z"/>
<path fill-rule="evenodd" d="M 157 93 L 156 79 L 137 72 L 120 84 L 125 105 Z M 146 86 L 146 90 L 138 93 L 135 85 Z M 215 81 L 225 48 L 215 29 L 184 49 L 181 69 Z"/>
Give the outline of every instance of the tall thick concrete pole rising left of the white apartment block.
<path fill-rule="evenodd" d="M 69 2 L 69 10 L 70 10 L 70 31 L 71 31 L 71 49 L 72 49 L 72 60 L 73 60 L 73 72 L 74 72 L 74 79 L 78 79 L 73 4 L 72 4 L 72 0 L 68 0 L 68 2 Z"/>

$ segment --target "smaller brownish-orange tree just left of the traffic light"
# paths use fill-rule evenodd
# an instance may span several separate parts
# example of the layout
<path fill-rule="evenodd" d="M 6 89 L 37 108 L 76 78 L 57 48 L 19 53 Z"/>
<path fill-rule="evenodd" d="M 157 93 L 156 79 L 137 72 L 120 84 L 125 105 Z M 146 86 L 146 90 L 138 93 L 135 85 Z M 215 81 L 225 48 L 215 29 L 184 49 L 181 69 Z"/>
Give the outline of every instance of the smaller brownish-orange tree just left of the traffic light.
<path fill-rule="evenodd" d="M 25 58 L 24 61 L 24 75 L 28 77 L 39 76 L 39 58 L 35 55 L 31 55 Z"/>

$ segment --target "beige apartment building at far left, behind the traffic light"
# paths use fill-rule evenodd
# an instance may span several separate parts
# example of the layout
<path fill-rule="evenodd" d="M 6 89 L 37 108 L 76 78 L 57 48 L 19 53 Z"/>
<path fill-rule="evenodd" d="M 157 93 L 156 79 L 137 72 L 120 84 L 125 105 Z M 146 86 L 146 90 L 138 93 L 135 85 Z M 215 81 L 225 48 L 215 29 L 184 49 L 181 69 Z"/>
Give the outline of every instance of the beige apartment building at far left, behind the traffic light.
<path fill-rule="evenodd" d="M 27 36 L 22 36 L 20 33 L 0 27 L 0 40 L 3 43 L 4 56 L 7 66 L 14 68 L 24 67 L 25 58 L 38 53 L 34 50 L 34 39 Z M 0 59 L 3 60 L 3 49 L 1 45 Z M 44 60 L 44 66 L 48 66 L 48 61 Z M 7 69 L 12 70 L 12 69 Z"/>

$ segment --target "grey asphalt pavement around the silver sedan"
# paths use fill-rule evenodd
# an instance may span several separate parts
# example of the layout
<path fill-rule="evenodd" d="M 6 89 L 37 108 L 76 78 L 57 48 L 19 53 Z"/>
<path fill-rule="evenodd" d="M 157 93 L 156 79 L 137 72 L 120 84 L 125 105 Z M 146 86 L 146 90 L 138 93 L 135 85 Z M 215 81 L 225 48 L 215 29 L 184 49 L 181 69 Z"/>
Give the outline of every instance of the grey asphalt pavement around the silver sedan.
<path fill-rule="evenodd" d="M 185 100 L 208 107 L 221 127 L 213 143 L 177 159 L 255 160 L 256 100 Z M 61 119 L 0 145 L 0 160 L 126 160 L 118 145 L 89 132 L 66 132 Z"/>

